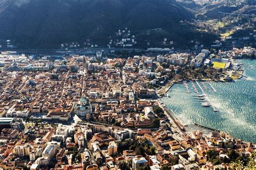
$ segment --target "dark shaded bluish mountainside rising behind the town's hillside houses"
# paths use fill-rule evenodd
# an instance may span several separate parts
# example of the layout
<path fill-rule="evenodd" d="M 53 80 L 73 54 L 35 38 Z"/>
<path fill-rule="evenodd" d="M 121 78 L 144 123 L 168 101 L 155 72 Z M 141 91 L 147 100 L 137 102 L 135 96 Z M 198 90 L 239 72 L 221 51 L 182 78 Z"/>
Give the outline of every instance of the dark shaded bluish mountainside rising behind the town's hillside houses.
<path fill-rule="evenodd" d="M 175 0 L 0 0 L 0 39 L 28 46 L 94 39 L 120 28 L 170 28 L 193 14 Z"/>

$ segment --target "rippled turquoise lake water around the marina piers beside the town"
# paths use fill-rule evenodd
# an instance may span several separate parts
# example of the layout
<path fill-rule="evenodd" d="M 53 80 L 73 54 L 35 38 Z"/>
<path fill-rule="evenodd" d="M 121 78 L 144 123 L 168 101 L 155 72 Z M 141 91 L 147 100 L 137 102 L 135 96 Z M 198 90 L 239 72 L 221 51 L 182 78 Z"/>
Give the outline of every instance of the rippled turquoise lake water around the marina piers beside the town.
<path fill-rule="evenodd" d="M 198 82 L 206 101 L 213 107 L 202 107 L 197 95 L 202 94 L 197 82 L 187 82 L 191 93 L 186 93 L 183 83 L 174 84 L 163 97 L 168 109 L 176 114 L 188 130 L 197 129 L 194 123 L 229 132 L 231 136 L 256 142 L 256 60 L 237 60 L 244 63 L 244 77 L 235 82 Z M 199 93 L 192 87 L 195 84 Z M 216 91 L 214 91 L 213 87 Z"/>

